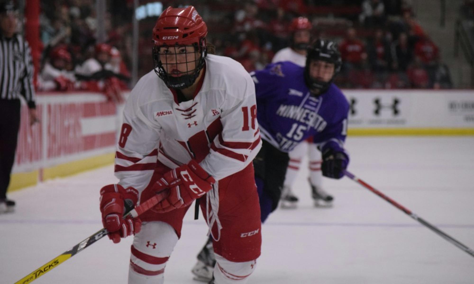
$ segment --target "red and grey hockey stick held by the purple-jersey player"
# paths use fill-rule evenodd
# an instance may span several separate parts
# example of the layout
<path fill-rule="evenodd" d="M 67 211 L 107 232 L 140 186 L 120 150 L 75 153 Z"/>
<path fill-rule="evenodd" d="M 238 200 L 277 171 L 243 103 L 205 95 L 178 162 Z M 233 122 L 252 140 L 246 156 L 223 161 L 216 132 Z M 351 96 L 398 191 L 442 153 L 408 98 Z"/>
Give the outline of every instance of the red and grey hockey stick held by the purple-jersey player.
<path fill-rule="evenodd" d="M 347 170 L 344 170 L 344 174 L 346 175 L 346 177 L 349 177 L 350 179 L 356 181 L 357 183 L 361 184 L 362 186 L 364 186 L 365 188 L 367 188 L 368 190 L 372 191 L 374 194 L 376 195 L 379 195 L 380 197 L 382 197 L 383 199 L 385 199 L 388 203 L 392 204 L 393 206 L 397 207 L 398 209 L 400 209 L 401 211 L 405 212 L 407 215 L 409 215 L 411 218 L 415 219 L 416 221 L 420 222 L 421 224 L 423 224 L 424 226 L 428 227 L 428 229 L 430 229 L 431 231 L 434 231 L 435 233 L 437 233 L 439 236 L 441 236 L 442 238 L 444 238 L 445 240 L 449 241 L 450 243 L 452 243 L 453 245 L 455 245 L 456 247 L 464 250 L 465 252 L 467 252 L 469 255 L 471 255 L 472 257 L 474 257 L 474 250 L 472 250 L 471 248 L 468 248 L 466 247 L 465 245 L 463 245 L 461 242 L 455 240 L 454 238 L 450 237 L 447 233 L 439 230 L 438 228 L 436 228 L 435 226 L 431 225 L 430 223 L 426 222 L 425 220 L 423 220 L 421 217 L 419 217 L 418 215 L 416 215 L 415 213 L 412 213 L 410 210 L 408 210 L 407 208 L 403 207 L 402 205 L 398 204 L 397 202 L 395 202 L 392 198 L 388 197 L 387 195 L 384 195 L 382 192 L 378 191 L 377 189 L 375 189 L 374 187 L 368 185 L 367 183 L 365 183 L 365 181 L 363 181 L 362 179 L 354 176 L 353 174 L 351 174 L 350 172 L 348 172 Z"/>

